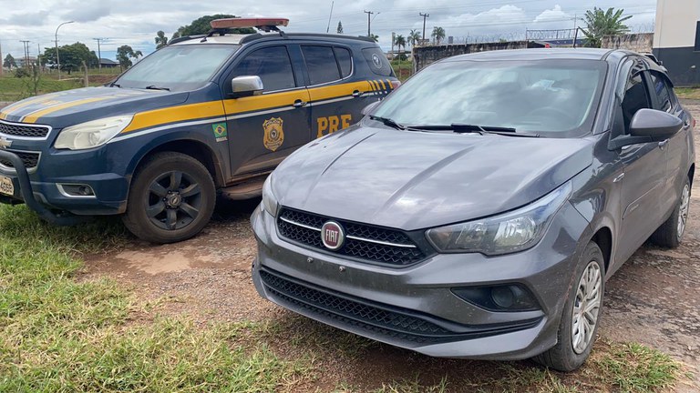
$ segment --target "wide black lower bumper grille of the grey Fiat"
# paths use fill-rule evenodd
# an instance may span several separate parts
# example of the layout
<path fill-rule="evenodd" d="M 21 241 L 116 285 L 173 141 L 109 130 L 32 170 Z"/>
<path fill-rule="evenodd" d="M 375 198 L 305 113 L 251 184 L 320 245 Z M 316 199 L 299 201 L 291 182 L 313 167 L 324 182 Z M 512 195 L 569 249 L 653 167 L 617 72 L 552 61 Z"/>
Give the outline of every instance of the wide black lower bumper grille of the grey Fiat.
<path fill-rule="evenodd" d="M 434 317 L 351 297 L 330 289 L 314 287 L 266 267 L 262 267 L 260 277 L 266 292 L 286 307 L 299 312 L 311 313 L 318 317 L 330 318 L 347 328 L 363 330 L 373 335 L 410 345 L 488 337 L 532 328 L 541 319 L 480 327 L 448 323 L 458 327 L 456 330 L 459 331 L 453 331 L 439 326 Z"/>

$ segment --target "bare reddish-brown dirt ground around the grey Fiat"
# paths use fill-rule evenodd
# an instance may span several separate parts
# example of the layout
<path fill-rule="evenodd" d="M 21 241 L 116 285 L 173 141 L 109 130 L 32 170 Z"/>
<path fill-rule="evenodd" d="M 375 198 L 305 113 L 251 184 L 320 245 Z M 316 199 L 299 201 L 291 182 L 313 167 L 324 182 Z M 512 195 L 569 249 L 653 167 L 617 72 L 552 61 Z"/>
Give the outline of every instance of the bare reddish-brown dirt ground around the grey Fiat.
<path fill-rule="evenodd" d="M 686 106 L 700 118 L 700 101 Z M 695 140 L 700 150 L 700 137 Z M 691 367 L 700 364 L 700 175 L 695 177 L 683 245 L 674 250 L 645 245 L 626 262 L 607 284 L 601 328 L 604 338 L 640 342 Z M 269 318 L 293 323 L 290 312 L 262 300 L 252 287 L 255 243 L 248 219 L 257 202 L 220 200 L 211 225 L 186 242 L 151 246 L 134 240 L 116 253 L 87 256 L 83 278 L 117 278 L 133 286 L 139 300 L 158 301 L 162 312 L 199 323 Z M 380 368 L 374 362 L 393 366 Z M 423 376 L 431 369 L 440 376 L 458 372 L 455 361 L 383 345 L 371 347 L 361 361 L 340 366 L 334 368 L 339 370 L 335 377 L 350 384 L 364 378 L 413 378 L 417 367 Z M 680 389 L 700 391 L 698 374 L 695 388 Z"/>

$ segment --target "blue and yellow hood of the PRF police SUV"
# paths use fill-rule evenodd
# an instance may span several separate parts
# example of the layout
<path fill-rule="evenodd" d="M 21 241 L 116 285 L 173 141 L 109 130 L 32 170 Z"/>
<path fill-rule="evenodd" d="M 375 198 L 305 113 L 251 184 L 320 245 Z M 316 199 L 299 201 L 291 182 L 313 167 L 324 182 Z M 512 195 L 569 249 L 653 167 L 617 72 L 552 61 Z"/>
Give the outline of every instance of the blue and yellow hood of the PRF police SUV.
<path fill-rule="evenodd" d="M 0 119 L 63 128 L 101 117 L 129 115 L 183 103 L 188 93 L 118 87 L 86 87 L 36 96 L 5 106 Z"/>

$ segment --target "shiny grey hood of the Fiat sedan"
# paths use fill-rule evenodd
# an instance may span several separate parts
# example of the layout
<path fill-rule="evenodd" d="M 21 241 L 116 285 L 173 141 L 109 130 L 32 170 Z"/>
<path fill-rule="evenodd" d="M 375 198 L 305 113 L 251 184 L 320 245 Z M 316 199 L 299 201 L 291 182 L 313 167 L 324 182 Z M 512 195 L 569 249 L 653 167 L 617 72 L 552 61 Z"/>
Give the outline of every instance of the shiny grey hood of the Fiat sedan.
<path fill-rule="evenodd" d="M 580 138 L 353 126 L 289 156 L 273 192 L 284 207 L 414 230 L 527 205 L 591 164 Z"/>

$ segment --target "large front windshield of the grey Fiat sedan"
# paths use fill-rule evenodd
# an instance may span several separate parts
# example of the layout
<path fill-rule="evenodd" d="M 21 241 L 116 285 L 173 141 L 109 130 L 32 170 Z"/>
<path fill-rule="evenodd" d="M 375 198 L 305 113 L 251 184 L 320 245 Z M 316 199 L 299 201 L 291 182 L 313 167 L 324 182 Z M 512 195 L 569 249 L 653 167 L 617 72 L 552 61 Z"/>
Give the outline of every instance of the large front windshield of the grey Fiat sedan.
<path fill-rule="evenodd" d="M 587 134 L 605 70 L 604 62 L 594 60 L 448 61 L 413 76 L 373 115 L 403 126 Z"/>

